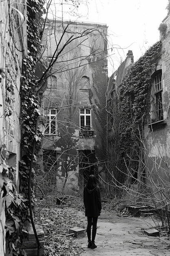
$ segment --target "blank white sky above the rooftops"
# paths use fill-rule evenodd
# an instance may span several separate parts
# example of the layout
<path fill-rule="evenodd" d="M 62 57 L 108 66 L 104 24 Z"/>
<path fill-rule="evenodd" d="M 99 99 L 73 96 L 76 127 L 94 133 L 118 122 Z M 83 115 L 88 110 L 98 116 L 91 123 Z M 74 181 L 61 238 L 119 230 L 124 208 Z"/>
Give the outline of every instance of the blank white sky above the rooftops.
<path fill-rule="evenodd" d="M 73 8 L 65 0 L 53 1 L 57 4 L 57 18 L 63 15 L 67 20 L 105 23 L 108 26 L 108 48 L 113 45 L 112 52 L 108 50 L 109 76 L 124 61 L 128 50 L 132 50 L 134 61 L 137 61 L 159 40 L 158 27 L 167 15 L 168 5 L 168 0 L 77 0 L 82 3 Z"/>

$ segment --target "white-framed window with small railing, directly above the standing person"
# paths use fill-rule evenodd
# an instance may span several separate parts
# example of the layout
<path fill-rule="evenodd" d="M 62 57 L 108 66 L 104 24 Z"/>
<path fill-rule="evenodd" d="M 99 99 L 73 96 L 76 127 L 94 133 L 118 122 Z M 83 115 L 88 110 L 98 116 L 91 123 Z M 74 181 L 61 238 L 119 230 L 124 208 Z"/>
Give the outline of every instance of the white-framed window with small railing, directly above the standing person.
<path fill-rule="evenodd" d="M 91 130 L 91 109 L 80 108 L 79 116 L 80 130 Z"/>

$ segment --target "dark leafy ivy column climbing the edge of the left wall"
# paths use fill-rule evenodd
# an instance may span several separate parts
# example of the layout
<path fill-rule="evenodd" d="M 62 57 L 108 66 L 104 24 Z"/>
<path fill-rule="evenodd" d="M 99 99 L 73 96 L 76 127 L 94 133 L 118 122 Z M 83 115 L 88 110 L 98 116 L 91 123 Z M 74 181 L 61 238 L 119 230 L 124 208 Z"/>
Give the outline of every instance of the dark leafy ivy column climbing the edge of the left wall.
<path fill-rule="evenodd" d="M 35 66 L 41 47 L 41 33 L 43 29 L 42 16 L 45 13 L 45 9 L 43 8 L 44 2 L 44 0 L 27 1 L 28 56 L 23 60 L 23 76 L 21 82 L 21 123 L 23 128 L 21 144 L 24 159 L 24 161 L 20 163 L 21 177 L 23 177 L 23 174 L 24 177 L 28 176 L 33 140 L 35 139 L 38 143 L 41 143 L 40 130 L 38 130 L 37 135 L 35 135 L 36 119 L 40 116 L 40 99 L 36 95 L 38 84 L 36 84 L 35 81 Z M 36 160 L 35 155 L 34 159 Z M 26 186 L 23 186 L 23 188 L 26 189 Z"/>

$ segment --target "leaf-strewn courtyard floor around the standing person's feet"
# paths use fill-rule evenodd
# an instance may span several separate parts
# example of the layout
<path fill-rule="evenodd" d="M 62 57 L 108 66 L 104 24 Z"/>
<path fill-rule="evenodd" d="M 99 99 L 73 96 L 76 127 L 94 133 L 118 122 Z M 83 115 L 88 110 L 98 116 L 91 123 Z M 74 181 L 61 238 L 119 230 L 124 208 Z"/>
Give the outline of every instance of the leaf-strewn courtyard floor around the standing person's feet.
<path fill-rule="evenodd" d="M 69 229 L 86 229 L 86 217 L 82 202 L 74 205 L 38 203 L 35 221 L 45 234 L 45 256 L 170 256 L 170 240 L 167 234 L 148 236 L 144 230 L 156 228 L 158 220 L 151 217 L 133 217 L 109 209 L 103 204 L 97 222 L 95 243 L 97 248 L 87 248 L 87 236 L 74 238 Z"/>

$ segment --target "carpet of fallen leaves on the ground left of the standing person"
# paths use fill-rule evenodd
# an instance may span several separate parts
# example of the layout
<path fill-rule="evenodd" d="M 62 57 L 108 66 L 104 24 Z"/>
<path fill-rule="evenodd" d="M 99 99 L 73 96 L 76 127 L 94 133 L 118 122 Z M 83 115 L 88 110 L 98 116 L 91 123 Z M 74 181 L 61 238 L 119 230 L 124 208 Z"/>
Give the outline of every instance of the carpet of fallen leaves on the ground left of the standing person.
<path fill-rule="evenodd" d="M 78 256 L 81 248 L 77 246 L 76 239 L 67 236 L 71 227 L 84 228 L 84 222 L 77 218 L 76 208 L 61 207 L 60 205 L 45 207 L 42 201 L 37 204 L 35 223 L 44 229 L 44 255 L 45 256 Z"/>

